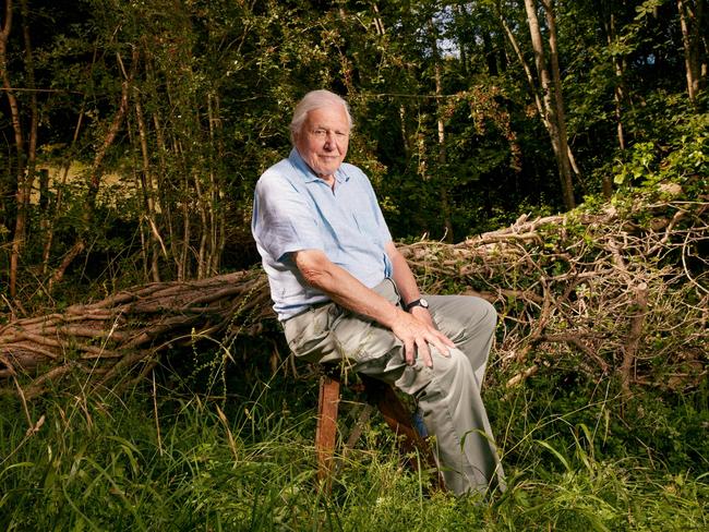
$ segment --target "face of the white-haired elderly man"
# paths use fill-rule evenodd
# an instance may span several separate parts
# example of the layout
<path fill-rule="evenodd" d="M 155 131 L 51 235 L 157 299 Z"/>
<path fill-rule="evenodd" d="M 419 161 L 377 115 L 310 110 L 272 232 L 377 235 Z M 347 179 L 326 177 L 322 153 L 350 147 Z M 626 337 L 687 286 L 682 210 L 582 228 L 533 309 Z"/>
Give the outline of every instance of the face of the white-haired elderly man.
<path fill-rule="evenodd" d="M 308 113 L 296 148 L 317 174 L 329 181 L 345 160 L 349 145 L 349 121 L 343 106 L 333 104 Z"/>

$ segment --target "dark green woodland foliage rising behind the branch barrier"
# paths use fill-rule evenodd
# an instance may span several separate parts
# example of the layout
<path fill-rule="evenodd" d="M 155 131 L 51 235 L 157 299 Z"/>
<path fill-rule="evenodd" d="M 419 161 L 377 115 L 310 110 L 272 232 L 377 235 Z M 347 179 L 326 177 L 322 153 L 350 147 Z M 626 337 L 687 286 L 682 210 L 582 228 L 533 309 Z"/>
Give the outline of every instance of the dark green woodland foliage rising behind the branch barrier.
<path fill-rule="evenodd" d="M 32 87 L 16 2 L 9 75 L 23 125 L 37 97 L 37 162 L 52 180 L 48 210 L 31 204 L 20 265 L 25 294 L 44 293 L 80 237 L 91 253 L 81 258 L 93 264 L 100 254 L 104 263 L 94 271 L 69 268 L 65 278 L 80 285 L 115 285 L 108 277 L 120 263 L 135 274 L 131 280 L 144 280 L 257 262 L 249 234 L 253 185 L 287 155 L 290 112 L 315 87 L 350 101 L 349 160 L 371 176 L 397 239 L 453 231 L 460 241 L 562 205 L 534 104 L 538 87 L 520 63 L 533 66 L 519 2 L 83 0 L 67 9 L 31 0 L 28 7 L 40 90 L 25 90 Z M 681 176 L 698 192 L 705 183 L 690 176 L 706 173 L 706 95 L 694 105 L 685 96 L 675 5 L 554 8 L 577 192 L 596 194 L 614 176 L 626 195 L 649 178 Z M 107 145 L 125 82 L 125 116 Z M 12 144 L 7 109 L 0 119 Z M 625 150 L 617 147 L 618 122 Z M 12 169 L 27 157 L 10 144 L 0 177 L 5 266 L 17 213 Z M 70 161 L 85 171 L 64 183 Z"/>

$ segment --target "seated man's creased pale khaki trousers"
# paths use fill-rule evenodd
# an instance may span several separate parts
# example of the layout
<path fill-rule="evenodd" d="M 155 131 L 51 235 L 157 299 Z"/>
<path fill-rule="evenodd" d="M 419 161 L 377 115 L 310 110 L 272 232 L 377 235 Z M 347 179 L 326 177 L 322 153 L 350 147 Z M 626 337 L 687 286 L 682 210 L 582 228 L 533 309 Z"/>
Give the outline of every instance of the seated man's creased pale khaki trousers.
<path fill-rule="evenodd" d="M 374 290 L 400 304 L 390 279 Z M 431 347 L 433 367 L 424 366 L 421 360 L 408 365 L 404 344 L 389 329 L 335 303 L 287 319 L 286 339 L 299 358 L 343 363 L 413 396 L 429 435 L 435 436 L 438 466 L 448 489 L 458 495 L 504 489 L 502 464 L 480 397 L 497 314 L 480 298 L 425 299 L 436 326 L 457 347 L 450 356 Z"/>

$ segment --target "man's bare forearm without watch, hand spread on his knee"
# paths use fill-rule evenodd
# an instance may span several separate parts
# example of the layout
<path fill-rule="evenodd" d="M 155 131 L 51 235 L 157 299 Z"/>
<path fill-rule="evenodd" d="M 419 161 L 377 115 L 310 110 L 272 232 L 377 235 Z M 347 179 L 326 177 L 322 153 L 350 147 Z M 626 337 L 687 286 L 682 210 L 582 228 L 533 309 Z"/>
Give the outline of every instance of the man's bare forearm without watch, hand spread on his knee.
<path fill-rule="evenodd" d="M 299 251 L 292 254 L 292 259 L 310 286 L 325 292 L 337 304 L 369 316 L 392 329 L 392 332 L 404 343 L 408 364 L 413 364 L 418 352 L 422 355 L 424 364 L 432 366 L 429 343 L 442 353 L 448 352 L 447 346 L 454 347 L 453 342 L 435 327 L 417 319 L 366 288 L 349 271 L 329 261 L 322 251 Z"/>

